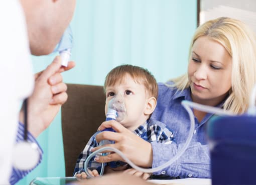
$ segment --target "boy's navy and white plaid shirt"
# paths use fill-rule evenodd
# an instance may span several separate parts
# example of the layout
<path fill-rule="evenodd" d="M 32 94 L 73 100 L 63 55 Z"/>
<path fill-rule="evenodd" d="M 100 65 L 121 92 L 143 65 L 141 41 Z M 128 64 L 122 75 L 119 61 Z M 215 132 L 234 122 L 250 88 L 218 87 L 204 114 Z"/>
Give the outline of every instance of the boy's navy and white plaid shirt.
<path fill-rule="evenodd" d="M 84 162 L 86 158 L 92 153 L 91 149 L 99 145 L 95 138 L 98 133 L 99 131 L 91 136 L 83 151 L 80 153 L 78 159 L 76 160 L 74 175 L 76 173 L 81 173 L 82 171 L 84 171 Z M 148 142 L 161 142 L 165 144 L 170 144 L 174 141 L 173 131 L 168 129 L 164 123 L 155 119 L 147 120 L 144 124 L 140 125 L 137 129 L 135 129 L 134 133 Z M 89 169 L 97 169 L 98 171 L 100 171 L 101 163 L 96 162 L 94 160 L 94 157 L 92 157 L 89 161 L 88 167 Z M 126 163 L 122 161 L 112 161 L 107 163 L 107 165 L 112 168 L 124 164 Z"/>

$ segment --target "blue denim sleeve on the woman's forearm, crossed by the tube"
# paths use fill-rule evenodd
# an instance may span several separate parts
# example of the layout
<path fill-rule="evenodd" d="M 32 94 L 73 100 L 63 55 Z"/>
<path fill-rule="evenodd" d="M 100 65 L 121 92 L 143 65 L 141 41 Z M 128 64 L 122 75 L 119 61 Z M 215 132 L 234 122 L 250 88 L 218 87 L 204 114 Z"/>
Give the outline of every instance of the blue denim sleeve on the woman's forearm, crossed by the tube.
<path fill-rule="evenodd" d="M 183 143 L 164 144 L 152 143 L 153 165 L 157 167 L 166 163 L 176 155 Z M 192 142 L 185 152 L 171 166 L 168 166 L 154 174 L 166 174 L 170 176 L 210 178 L 210 156 L 208 145 L 200 142 Z"/>

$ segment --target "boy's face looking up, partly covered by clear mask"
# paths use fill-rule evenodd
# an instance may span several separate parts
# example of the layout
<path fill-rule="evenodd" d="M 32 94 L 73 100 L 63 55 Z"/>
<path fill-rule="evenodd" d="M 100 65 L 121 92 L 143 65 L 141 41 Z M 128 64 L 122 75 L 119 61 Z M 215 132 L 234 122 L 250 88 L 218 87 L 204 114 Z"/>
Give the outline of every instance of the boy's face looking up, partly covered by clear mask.
<path fill-rule="evenodd" d="M 126 116 L 120 123 L 124 127 L 135 130 L 147 120 L 149 115 L 145 113 L 148 104 L 145 86 L 136 83 L 130 74 L 126 74 L 123 80 L 117 81 L 114 85 L 106 86 L 105 91 L 105 113 L 108 109 L 108 102 L 112 98 L 117 96 L 119 99 L 123 99 Z"/>

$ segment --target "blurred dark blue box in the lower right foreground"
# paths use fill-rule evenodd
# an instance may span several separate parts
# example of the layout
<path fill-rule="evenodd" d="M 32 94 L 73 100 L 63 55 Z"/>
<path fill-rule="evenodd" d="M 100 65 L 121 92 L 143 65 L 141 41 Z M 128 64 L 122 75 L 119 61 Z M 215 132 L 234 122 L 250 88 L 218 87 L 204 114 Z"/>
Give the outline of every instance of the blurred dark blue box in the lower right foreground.
<path fill-rule="evenodd" d="M 207 135 L 212 185 L 256 184 L 256 116 L 215 116 Z"/>

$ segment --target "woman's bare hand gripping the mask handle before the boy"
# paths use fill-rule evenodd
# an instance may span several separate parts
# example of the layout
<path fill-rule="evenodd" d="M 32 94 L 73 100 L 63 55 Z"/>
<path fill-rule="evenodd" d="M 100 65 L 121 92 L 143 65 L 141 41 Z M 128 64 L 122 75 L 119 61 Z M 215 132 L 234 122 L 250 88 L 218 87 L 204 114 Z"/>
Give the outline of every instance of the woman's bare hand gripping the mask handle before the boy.
<path fill-rule="evenodd" d="M 103 146 L 94 147 L 91 151 L 95 151 L 104 146 L 111 146 L 119 149 L 136 165 L 142 167 L 151 167 L 153 162 L 153 151 L 151 143 L 145 141 L 134 132 L 122 126 L 115 120 L 104 121 L 98 130 L 112 127 L 116 132 L 103 131 L 96 135 L 97 142 L 101 140 L 114 140 L 114 144 L 106 144 Z M 109 151 L 104 151 L 109 152 Z M 97 162 L 109 162 L 115 160 L 124 161 L 117 153 L 110 153 L 106 156 L 95 157 Z"/>

